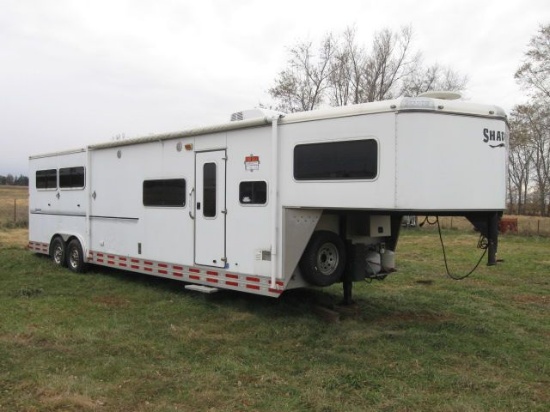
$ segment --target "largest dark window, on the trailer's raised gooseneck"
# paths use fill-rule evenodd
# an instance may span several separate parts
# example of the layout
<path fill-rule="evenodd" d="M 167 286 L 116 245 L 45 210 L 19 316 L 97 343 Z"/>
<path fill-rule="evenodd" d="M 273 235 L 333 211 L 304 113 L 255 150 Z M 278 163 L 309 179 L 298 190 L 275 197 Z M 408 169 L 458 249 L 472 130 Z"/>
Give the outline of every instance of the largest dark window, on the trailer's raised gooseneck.
<path fill-rule="evenodd" d="M 294 148 L 296 180 L 374 179 L 378 143 L 374 139 L 302 144 Z"/>

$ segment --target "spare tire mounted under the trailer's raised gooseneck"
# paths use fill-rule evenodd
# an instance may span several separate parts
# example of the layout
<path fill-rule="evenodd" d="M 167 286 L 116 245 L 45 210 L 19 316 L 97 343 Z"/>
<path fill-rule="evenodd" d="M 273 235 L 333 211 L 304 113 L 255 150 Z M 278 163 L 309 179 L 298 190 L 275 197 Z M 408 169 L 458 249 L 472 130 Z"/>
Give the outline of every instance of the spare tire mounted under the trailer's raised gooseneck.
<path fill-rule="evenodd" d="M 344 242 L 334 232 L 313 232 L 299 266 L 304 279 L 312 285 L 329 286 L 338 282 L 346 267 Z"/>

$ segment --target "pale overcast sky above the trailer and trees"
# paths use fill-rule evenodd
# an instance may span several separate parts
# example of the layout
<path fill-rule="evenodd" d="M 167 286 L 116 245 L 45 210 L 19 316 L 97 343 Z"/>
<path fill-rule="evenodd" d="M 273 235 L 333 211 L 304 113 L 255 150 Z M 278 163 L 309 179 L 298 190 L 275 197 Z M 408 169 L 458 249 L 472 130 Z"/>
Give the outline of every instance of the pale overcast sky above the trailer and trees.
<path fill-rule="evenodd" d="M 0 174 L 33 154 L 229 120 L 270 103 L 288 47 L 411 25 L 426 64 L 509 111 L 549 0 L 0 0 Z"/>

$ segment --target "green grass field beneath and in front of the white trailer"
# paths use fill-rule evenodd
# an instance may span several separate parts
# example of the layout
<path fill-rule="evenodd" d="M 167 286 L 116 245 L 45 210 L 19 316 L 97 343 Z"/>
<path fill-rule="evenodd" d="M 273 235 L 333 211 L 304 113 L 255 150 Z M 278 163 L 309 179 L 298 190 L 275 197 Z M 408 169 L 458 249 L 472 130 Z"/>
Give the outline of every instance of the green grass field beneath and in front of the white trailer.
<path fill-rule="evenodd" d="M 457 274 L 474 234 L 447 231 Z M 453 281 L 437 234 L 406 231 L 399 271 L 278 300 L 0 247 L 0 410 L 546 411 L 550 240 L 501 238 L 496 267 Z"/>

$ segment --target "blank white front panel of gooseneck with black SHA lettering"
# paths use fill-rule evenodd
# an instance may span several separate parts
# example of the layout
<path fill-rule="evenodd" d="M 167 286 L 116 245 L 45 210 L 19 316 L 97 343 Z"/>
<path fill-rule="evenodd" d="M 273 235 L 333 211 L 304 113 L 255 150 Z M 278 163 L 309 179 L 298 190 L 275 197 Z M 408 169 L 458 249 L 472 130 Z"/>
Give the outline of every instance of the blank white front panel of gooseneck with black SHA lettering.
<path fill-rule="evenodd" d="M 491 131 L 501 140 L 485 142 Z M 505 209 L 506 133 L 502 119 L 398 114 L 395 208 Z"/>

